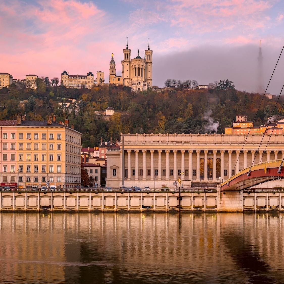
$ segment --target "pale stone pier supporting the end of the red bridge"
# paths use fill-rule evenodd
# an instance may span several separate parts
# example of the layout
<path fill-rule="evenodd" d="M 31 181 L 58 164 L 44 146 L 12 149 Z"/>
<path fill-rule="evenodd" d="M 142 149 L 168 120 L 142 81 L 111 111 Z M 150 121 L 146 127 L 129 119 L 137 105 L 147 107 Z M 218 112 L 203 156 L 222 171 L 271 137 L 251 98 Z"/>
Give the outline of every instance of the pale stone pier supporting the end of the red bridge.
<path fill-rule="evenodd" d="M 217 186 L 217 211 L 218 212 L 243 212 L 243 191 L 222 191 Z"/>

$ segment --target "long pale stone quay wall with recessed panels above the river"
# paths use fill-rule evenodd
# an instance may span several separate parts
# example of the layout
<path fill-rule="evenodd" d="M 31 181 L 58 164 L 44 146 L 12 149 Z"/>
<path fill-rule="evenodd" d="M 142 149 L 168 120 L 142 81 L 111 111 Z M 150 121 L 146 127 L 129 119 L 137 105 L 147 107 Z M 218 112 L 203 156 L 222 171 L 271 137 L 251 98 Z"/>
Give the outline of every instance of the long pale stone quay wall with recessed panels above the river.
<path fill-rule="evenodd" d="M 180 193 L 181 211 L 283 211 L 284 193 L 220 192 L 206 189 L 187 190 Z M 65 191 L 65 192 L 0 192 L 0 212 L 29 212 L 49 210 L 66 211 L 179 211 L 178 190 L 148 192 Z"/>

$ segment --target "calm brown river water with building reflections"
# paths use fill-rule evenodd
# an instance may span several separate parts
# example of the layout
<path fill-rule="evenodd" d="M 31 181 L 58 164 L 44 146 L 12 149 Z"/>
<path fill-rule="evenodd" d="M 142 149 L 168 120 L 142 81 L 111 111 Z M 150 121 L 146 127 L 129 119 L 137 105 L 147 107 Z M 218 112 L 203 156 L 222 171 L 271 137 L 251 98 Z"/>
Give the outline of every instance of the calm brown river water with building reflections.
<path fill-rule="evenodd" d="M 0 283 L 284 283 L 280 213 L 1 213 Z"/>

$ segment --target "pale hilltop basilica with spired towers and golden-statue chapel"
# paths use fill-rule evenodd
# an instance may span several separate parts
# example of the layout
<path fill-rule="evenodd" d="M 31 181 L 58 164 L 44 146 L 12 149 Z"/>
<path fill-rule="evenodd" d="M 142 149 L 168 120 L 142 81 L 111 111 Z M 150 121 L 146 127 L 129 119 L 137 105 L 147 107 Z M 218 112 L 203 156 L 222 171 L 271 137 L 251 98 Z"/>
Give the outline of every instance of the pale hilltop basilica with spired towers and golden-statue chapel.
<path fill-rule="evenodd" d="M 152 73 L 152 56 L 153 51 L 150 50 L 150 40 L 148 41 L 148 49 L 145 50 L 144 59 L 138 55 L 134 59 L 130 59 L 131 49 L 128 48 L 128 39 L 126 40 L 126 49 L 123 50 L 124 60 L 122 64 L 122 76 L 116 75 L 115 62 L 112 58 L 110 60 L 109 68 L 109 84 L 110 85 L 124 85 L 134 89 L 134 91 L 147 90 L 152 87 L 153 73 Z"/>

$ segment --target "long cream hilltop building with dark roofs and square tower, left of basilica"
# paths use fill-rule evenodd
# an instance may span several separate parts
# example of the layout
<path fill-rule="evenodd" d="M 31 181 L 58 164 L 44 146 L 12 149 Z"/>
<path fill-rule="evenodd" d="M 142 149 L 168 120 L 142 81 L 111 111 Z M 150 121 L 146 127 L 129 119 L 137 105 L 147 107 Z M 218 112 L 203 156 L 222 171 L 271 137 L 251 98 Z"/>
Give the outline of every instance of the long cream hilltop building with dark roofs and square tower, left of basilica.
<path fill-rule="evenodd" d="M 104 72 L 98 71 L 97 78 L 92 72 L 87 73 L 87 75 L 69 75 L 69 73 L 64 70 L 61 73 L 61 83 L 65 88 L 80 88 L 85 87 L 91 89 L 95 85 L 103 85 L 105 82 Z"/>

